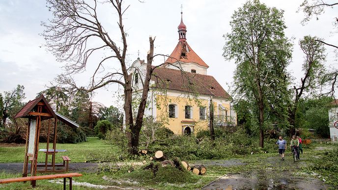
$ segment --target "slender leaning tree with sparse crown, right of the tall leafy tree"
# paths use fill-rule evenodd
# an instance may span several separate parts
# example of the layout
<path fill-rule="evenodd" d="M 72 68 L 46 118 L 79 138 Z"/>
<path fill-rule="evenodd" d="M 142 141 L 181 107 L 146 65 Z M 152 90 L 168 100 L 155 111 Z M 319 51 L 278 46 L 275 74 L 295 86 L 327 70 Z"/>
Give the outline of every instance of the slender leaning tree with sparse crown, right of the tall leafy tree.
<path fill-rule="evenodd" d="M 321 84 L 321 78 L 325 74 L 324 62 L 326 59 L 324 45 L 319 42 L 317 37 L 304 36 L 299 41 L 299 45 L 304 53 L 304 62 L 302 70 L 304 75 L 300 83 L 293 86 L 294 100 L 293 105 L 289 107 L 290 136 L 295 135 L 295 120 L 299 101 L 304 95 L 317 95 L 316 91 Z M 306 94 L 305 94 L 306 93 Z"/>

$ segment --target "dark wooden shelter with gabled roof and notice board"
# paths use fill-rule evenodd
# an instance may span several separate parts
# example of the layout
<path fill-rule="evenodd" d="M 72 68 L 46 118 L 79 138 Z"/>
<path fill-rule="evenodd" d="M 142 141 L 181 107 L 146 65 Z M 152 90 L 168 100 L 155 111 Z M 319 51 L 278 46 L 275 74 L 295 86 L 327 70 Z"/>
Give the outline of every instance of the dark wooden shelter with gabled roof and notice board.
<path fill-rule="evenodd" d="M 79 125 L 71 121 L 70 119 L 64 117 L 63 115 L 55 112 L 42 94 L 38 98 L 32 101 L 29 101 L 14 116 L 14 119 L 17 119 L 17 118 L 28 118 L 23 177 L 27 177 L 28 175 L 28 163 L 29 162 L 31 162 L 31 167 L 30 167 L 31 176 L 36 175 L 36 172 L 38 171 L 37 166 L 44 166 L 44 169 L 39 170 L 39 172 L 56 171 L 55 170 L 55 166 L 56 166 L 55 156 L 57 152 L 62 152 L 62 150 L 56 149 L 57 120 L 59 119 L 66 125 L 73 126 L 73 127 L 74 126 L 79 127 Z M 51 134 L 51 119 L 54 119 L 53 134 Z M 40 135 L 40 128 L 41 128 L 41 121 L 43 120 L 48 120 L 47 148 L 45 150 L 42 149 L 43 152 L 46 153 L 46 160 L 45 160 L 45 164 L 38 165 L 37 157 L 38 157 L 38 151 L 39 151 L 39 135 Z M 49 149 L 50 136 L 54 136 L 53 149 Z M 48 164 L 48 155 L 52 155 L 52 164 Z M 68 161 L 67 161 L 67 166 L 68 166 Z M 52 168 L 49 169 L 49 167 L 52 167 Z M 35 185 L 35 181 L 32 181 L 32 185 L 33 186 Z"/>

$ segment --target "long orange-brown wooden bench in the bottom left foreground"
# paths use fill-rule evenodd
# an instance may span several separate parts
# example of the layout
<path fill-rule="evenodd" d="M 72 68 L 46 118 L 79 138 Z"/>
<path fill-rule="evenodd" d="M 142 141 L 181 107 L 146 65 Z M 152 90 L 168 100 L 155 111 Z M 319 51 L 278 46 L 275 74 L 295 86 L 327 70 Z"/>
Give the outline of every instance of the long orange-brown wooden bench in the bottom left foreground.
<path fill-rule="evenodd" d="M 63 174 L 54 174 L 54 175 L 18 177 L 18 178 L 0 179 L 0 184 L 33 181 L 34 183 L 32 183 L 32 187 L 35 188 L 35 181 L 36 180 L 63 178 L 63 190 L 66 190 L 66 178 L 68 178 L 69 179 L 69 189 L 72 190 L 72 177 L 80 177 L 80 176 L 82 176 L 82 174 L 80 174 L 80 173 L 63 173 Z"/>

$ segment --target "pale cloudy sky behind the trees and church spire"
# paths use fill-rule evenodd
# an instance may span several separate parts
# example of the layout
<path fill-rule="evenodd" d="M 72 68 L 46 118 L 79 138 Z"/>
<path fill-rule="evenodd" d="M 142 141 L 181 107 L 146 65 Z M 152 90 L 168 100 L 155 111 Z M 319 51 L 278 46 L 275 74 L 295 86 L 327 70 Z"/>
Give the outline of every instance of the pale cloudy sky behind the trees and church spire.
<path fill-rule="evenodd" d="M 103 0 L 101 0 L 103 1 Z M 337 17 L 338 7 L 328 8 L 319 20 L 312 19 L 306 26 L 300 24 L 303 12 L 297 13 L 303 0 L 261 0 L 268 6 L 284 10 L 286 35 L 294 38 L 293 60 L 288 70 L 299 80 L 303 54 L 298 41 L 305 35 L 318 36 L 337 44 L 337 34 L 332 23 Z M 332 1 L 332 0 L 331 0 Z M 330 2 L 330 0 L 328 0 Z M 183 21 L 187 26 L 187 41 L 192 49 L 209 65 L 208 75 L 214 76 L 225 88 L 231 85 L 235 63 L 225 61 L 222 56 L 225 33 L 230 32 L 231 15 L 245 0 L 126 0 L 131 6 L 125 15 L 124 25 L 128 33 L 128 61 L 131 64 L 138 57 L 146 59 L 148 37 L 156 36 L 155 53 L 170 54 L 178 42 L 177 26 L 180 23 L 181 4 Z M 112 10 L 112 9 L 110 9 Z M 106 29 L 116 30 L 115 14 L 108 8 L 100 13 Z M 41 21 L 51 18 L 44 0 L 0 0 L 0 92 L 9 91 L 17 84 L 25 86 L 26 101 L 34 99 L 36 93 L 44 90 L 62 73 L 64 63 L 57 62 L 53 54 L 43 47 L 44 40 L 39 35 L 43 31 Z M 163 59 L 157 59 L 160 64 Z M 91 60 L 90 66 L 97 62 Z M 335 65 L 332 49 L 328 48 L 327 65 Z M 89 74 L 77 76 L 79 84 L 89 81 Z M 106 106 L 115 105 L 112 85 L 96 91 L 94 101 Z"/>

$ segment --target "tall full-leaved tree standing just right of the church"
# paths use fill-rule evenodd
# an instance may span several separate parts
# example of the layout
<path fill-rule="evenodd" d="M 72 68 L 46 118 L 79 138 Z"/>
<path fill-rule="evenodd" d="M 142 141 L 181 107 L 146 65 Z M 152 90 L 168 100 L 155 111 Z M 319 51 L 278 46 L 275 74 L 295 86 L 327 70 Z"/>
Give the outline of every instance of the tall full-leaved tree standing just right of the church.
<path fill-rule="evenodd" d="M 285 116 L 292 45 L 284 35 L 283 11 L 259 0 L 247 1 L 232 15 L 225 34 L 224 57 L 235 59 L 235 94 L 248 101 L 264 146 L 264 125 L 270 109 Z"/>

